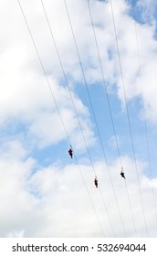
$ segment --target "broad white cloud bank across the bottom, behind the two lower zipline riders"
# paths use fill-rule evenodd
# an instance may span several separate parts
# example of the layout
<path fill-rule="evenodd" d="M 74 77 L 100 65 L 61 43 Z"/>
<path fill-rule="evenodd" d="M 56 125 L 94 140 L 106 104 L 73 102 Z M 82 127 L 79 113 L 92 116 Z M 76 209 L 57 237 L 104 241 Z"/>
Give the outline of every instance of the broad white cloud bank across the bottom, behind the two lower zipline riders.
<path fill-rule="evenodd" d="M 9 152 L 12 156 L 11 151 Z M 0 160 L 0 197 L 3 202 L 0 211 L 1 237 L 101 237 L 98 219 L 90 204 L 77 165 L 65 165 L 64 168 L 60 168 L 59 165 L 49 165 L 47 168 L 38 167 L 36 173 L 30 176 L 36 163 L 32 159 L 21 162 L 20 157 L 13 161 L 9 159 L 9 154 L 7 160 L 5 158 Z M 128 157 L 123 158 L 122 161 L 125 165 L 136 229 L 138 235 L 142 237 L 145 236 L 145 229 L 134 163 Z M 110 186 L 107 168 L 103 162 L 94 163 L 94 166 L 115 234 L 119 237 L 123 236 L 119 211 Z M 124 181 L 120 177 L 119 164 L 115 162 L 109 167 L 127 235 L 135 236 Z M 99 189 L 94 187 L 93 170 L 89 165 L 80 165 L 80 168 L 102 228 L 107 236 L 113 236 Z M 140 162 L 138 162 L 138 170 L 149 234 L 155 236 L 154 208 L 149 187 L 151 180 L 143 175 L 143 165 Z M 153 179 L 153 184 L 156 182 Z"/>

